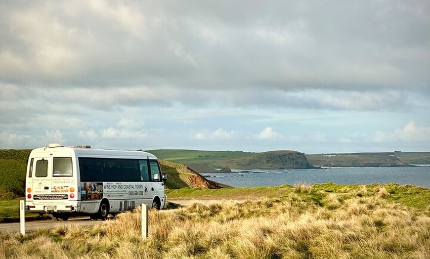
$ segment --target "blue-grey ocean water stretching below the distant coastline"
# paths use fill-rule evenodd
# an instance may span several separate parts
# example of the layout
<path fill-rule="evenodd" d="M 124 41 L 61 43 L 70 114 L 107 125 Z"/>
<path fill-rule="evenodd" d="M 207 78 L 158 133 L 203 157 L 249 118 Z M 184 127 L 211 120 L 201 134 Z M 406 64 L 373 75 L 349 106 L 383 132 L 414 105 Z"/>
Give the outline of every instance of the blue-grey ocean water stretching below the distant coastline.
<path fill-rule="evenodd" d="M 398 183 L 430 188 L 430 166 L 361 167 L 296 170 L 232 170 L 232 173 L 202 173 L 232 187 L 279 186 L 296 183 L 337 184 Z"/>

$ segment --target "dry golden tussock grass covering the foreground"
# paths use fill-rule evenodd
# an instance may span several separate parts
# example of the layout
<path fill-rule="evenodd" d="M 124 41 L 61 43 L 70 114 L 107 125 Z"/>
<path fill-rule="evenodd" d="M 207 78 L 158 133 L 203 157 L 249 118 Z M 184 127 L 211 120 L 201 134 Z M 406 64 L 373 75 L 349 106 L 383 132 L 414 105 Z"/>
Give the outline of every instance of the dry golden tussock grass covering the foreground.
<path fill-rule="evenodd" d="M 430 258 L 427 212 L 387 202 L 385 189 L 326 193 L 323 205 L 300 195 L 311 188 L 300 190 L 283 199 L 150 211 L 146 239 L 139 209 L 88 228 L 0 233 L 0 259 Z"/>

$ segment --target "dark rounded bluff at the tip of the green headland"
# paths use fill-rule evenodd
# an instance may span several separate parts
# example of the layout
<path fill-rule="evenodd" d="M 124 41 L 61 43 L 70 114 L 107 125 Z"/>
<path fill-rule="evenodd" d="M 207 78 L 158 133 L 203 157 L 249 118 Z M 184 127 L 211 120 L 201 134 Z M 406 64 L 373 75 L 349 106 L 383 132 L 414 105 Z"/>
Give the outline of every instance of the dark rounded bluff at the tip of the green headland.
<path fill-rule="evenodd" d="M 306 157 L 297 151 L 271 151 L 232 161 L 237 169 L 310 169 Z"/>

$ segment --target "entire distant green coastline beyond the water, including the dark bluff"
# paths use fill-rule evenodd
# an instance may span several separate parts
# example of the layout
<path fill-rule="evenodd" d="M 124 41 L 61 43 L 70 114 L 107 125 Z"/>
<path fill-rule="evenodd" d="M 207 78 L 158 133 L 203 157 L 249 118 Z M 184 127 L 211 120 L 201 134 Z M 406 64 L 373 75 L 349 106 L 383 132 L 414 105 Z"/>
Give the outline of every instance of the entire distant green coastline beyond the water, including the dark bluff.
<path fill-rule="evenodd" d="M 409 167 L 430 165 L 430 152 L 368 152 L 303 154 L 280 150 L 262 153 L 180 149 L 148 150 L 158 158 L 187 165 L 199 173 L 225 173 L 229 169 L 312 169 L 324 167 Z"/>

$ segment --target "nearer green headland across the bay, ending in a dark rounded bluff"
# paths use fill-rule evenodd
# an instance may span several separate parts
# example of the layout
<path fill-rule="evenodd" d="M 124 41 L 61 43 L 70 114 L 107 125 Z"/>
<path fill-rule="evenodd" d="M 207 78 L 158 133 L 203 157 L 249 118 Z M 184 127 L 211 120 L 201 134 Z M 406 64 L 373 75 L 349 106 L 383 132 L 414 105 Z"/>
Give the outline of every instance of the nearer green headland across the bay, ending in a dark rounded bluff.
<path fill-rule="evenodd" d="M 214 169 L 304 169 L 311 168 L 306 157 L 297 151 L 252 153 L 242 151 L 149 150 L 158 158 L 189 166 L 202 173 Z M 211 170 L 212 169 L 212 170 Z"/>

